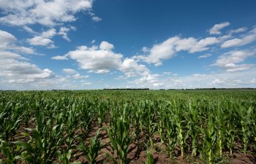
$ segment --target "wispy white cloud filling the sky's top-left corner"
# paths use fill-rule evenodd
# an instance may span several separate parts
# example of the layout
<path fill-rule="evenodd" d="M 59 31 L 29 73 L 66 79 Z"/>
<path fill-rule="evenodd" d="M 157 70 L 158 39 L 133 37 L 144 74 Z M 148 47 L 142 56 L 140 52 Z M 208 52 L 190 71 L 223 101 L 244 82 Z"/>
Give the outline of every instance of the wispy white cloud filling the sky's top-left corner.
<path fill-rule="evenodd" d="M 91 9 L 93 0 L 2 0 L 0 9 L 4 16 L 1 23 L 11 26 L 24 26 L 39 23 L 43 26 L 56 26 L 58 23 L 76 20 L 76 12 Z"/>

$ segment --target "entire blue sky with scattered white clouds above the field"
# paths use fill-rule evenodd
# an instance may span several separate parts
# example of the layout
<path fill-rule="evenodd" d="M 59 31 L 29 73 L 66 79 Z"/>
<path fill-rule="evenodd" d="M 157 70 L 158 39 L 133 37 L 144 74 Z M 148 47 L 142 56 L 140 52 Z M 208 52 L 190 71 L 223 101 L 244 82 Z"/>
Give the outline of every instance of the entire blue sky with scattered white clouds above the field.
<path fill-rule="evenodd" d="M 255 6 L 1 0 L 0 89 L 256 87 Z"/>

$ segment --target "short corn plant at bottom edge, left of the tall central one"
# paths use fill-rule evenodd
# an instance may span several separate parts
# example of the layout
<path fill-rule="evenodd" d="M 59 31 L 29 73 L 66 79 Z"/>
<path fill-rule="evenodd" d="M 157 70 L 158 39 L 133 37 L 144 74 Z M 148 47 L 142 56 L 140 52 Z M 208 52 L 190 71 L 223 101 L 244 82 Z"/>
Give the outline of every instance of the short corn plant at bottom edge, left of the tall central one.
<path fill-rule="evenodd" d="M 81 142 L 78 149 L 83 151 L 83 155 L 85 155 L 86 160 L 89 161 L 91 164 L 97 163 L 97 158 L 100 157 L 99 150 L 102 149 L 104 145 L 99 141 L 99 130 L 97 131 L 96 135 L 90 139 L 89 147 L 86 147 L 86 144 Z"/>

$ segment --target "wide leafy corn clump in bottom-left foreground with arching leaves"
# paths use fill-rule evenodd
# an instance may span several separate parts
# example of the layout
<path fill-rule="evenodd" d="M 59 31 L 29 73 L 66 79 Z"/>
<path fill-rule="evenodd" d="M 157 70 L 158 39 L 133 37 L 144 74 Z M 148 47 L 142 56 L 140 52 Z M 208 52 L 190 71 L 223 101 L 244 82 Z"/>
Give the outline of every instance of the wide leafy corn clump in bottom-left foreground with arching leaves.
<path fill-rule="evenodd" d="M 17 147 L 21 148 L 21 155 L 16 156 L 15 159 L 26 161 L 26 163 L 53 163 L 59 146 L 64 142 L 61 136 L 63 125 L 55 125 L 52 129 L 46 126 L 41 133 L 31 128 L 26 128 L 26 130 L 29 133 L 23 133 L 23 135 L 29 136 L 29 141 L 14 142 Z"/>

